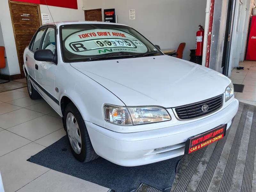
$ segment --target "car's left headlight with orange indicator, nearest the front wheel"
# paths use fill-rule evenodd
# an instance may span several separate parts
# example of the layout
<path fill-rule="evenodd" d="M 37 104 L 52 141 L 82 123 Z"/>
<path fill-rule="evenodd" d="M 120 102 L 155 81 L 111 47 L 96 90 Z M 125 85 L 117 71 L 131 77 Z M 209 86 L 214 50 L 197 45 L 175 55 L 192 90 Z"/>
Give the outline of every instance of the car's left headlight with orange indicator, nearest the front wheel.
<path fill-rule="evenodd" d="M 138 125 L 171 120 L 166 109 L 161 107 L 121 107 L 105 105 L 104 119 L 113 124 Z"/>

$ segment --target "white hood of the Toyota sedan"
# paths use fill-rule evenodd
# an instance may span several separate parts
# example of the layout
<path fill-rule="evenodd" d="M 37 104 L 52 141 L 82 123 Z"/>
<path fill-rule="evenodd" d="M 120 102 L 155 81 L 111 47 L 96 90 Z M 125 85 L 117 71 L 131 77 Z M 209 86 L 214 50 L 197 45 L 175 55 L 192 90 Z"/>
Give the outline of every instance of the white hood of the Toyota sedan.
<path fill-rule="evenodd" d="M 115 94 L 126 106 L 186 105 L 223 94 L 231 82 L 212 69 L 167 55 L 70 65 Z"/>

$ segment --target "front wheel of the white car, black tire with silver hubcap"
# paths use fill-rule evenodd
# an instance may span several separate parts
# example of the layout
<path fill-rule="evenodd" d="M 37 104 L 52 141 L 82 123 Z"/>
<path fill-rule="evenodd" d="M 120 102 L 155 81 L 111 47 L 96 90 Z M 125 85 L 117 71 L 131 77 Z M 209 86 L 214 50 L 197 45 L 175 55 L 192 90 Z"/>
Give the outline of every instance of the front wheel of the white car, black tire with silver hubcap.
<path fill-rule="evenodd" d="M 92 147 L 84 119 L 73 103 L 68 103 L 65 109 L 63 124 L 72 154 L 78 161 L 86 163 L 99 157 Z"/>

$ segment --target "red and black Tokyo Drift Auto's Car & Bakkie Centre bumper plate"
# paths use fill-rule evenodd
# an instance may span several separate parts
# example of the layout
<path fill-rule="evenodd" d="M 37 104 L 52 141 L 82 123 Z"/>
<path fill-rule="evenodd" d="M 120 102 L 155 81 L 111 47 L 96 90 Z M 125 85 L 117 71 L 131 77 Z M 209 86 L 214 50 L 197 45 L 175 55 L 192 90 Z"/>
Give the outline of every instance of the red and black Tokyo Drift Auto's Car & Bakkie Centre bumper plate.
<path fill-rule="evenodd" d="M 185 154 L 197 151 L 200 148 L 222 139 L 226 135 L 226 129 L 227 124 L 221 125 L 211 131 L 187 140 L 185 144 Z"/>

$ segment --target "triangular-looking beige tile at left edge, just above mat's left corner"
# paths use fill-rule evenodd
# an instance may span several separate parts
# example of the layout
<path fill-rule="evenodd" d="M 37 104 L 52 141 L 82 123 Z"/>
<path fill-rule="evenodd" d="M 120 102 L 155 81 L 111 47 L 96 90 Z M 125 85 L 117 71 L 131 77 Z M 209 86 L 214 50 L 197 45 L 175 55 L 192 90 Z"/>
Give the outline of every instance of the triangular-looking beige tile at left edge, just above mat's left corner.
<path fill-rule="evenodd" d="M 11 133 L 9 131 L 0 132 L 0 156 L 5 155 L 17 148 L 20 148 L 24 145 L 30 143 L 30 140 L 27 140 L 19 135 Z"/>

